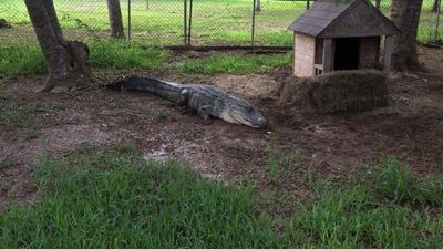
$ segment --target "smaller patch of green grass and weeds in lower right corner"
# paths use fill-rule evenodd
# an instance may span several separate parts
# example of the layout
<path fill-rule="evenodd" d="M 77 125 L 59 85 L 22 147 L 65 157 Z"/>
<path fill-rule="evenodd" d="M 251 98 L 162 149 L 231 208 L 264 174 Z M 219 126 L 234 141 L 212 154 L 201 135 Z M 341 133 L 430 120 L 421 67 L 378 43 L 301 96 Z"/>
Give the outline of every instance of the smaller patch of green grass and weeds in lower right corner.
<path fill-rule="evenodd" d="M 299 204 L 287 228 L 300 248 L 441 248 L 441 219 L 382 203 L 372 186 L 317 183 L 318 199 Z"/>

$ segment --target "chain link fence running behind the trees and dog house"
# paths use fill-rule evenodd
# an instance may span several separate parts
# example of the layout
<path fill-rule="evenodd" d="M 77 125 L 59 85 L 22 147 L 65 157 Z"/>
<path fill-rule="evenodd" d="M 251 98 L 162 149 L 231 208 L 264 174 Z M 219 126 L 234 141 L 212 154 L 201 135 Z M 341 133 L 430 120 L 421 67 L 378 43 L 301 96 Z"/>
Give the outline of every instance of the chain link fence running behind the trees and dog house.
<path fill-rule="evenodd" d="M 375 4 L 375 1 L 372 1 Z M 308 0 L 121 0 L 126 39 L 150 45 L 290 46 L 287 27 L 313 1 Z M 443 38 L 441 0 L 424 0 L 419 41 Z M 54 0 L 65 37 L 73 40 L 110 35 L 106 0 Z M 259 6 L 260 10 L 255 7 Z M 390 0 L 380 9 L 389 17 Z M 35 42 L 23 0 L 0 0 L 0 45 Z"/>

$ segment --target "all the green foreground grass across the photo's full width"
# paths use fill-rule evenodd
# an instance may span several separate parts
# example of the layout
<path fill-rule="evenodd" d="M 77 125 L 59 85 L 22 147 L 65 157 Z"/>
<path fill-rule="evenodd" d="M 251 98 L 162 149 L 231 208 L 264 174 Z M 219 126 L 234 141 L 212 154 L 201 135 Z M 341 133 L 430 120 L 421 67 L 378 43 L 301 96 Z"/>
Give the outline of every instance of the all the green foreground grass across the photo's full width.
<path fill-rule="evenodd" d="M 298 164 L 298 155 L 281 164 Z M 0 248 L 443 247 L 441 186 L 395 172 L 393 158 L 349 183 L 318 179 L 285 220 L 258 211 L 251 188 L 141 156 L 133 145 L 93 152 L 87 144 L 63 159 L 42 156 L 34 176 L 40 199 L 1 212 Z M 420 184 L 383 184 L 405 175 Z M 398 201 L 390 194 L 398 186 L 429 191 L 415 194 L 424 201 Z"/>

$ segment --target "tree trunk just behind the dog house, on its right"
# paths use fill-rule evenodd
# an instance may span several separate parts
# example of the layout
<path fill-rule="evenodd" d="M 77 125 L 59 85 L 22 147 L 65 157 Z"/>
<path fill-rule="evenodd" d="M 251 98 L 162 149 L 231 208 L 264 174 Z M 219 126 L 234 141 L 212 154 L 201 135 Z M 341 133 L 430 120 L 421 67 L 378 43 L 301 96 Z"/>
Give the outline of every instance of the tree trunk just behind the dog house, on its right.
<path fill-rule="evenodd" d="M 423 0 L 392 0 L 391 20 L 401 30 L 395 35 L 392 53 L 392 69 L 403 71 L 420 71 L 422 65 L 416 53 L 416 34 Z"/>

